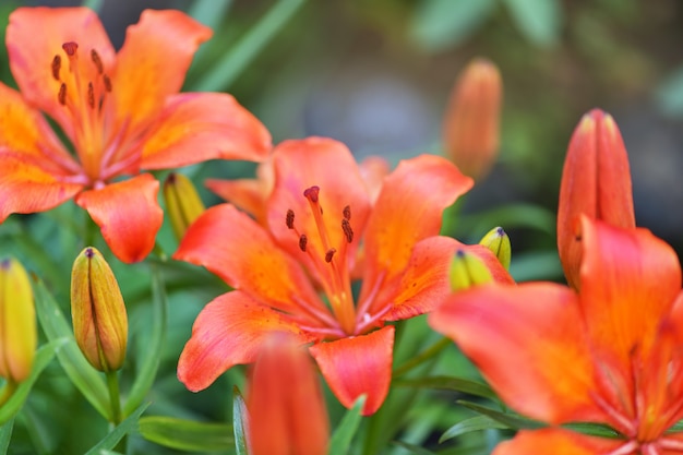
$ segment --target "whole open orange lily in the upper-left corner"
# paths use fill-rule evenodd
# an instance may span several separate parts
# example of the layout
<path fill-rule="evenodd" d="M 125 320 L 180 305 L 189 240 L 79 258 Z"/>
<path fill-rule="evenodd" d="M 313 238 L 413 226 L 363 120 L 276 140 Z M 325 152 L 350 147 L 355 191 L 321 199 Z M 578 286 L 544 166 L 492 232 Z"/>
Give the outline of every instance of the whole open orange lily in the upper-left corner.
<path fill-rule="evenodd" d="M 136 262 L 163 220 L 159 183 L 142 169 L 263 159 L 269 133 L 235 98 L 178 93 L 211 34 L 180 11 L 147 10 L 116 53 L 88 9 L 14 11 L 7 45 L 21 92 L 0 83 L 0 223 L 74 197 L 112 252 Z"/>

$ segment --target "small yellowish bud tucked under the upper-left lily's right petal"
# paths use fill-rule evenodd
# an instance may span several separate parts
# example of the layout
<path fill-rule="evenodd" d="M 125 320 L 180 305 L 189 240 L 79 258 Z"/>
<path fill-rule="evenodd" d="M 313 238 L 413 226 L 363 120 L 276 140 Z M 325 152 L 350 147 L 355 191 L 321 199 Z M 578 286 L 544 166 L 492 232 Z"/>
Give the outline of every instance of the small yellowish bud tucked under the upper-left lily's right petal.
<path fill-rule="evenodd" d="M 164 182 L 166 208 L 178 239 L 182 239 L 192 223 L 204 212 L 192 181 L 182 173 L 171 172 Z"/>

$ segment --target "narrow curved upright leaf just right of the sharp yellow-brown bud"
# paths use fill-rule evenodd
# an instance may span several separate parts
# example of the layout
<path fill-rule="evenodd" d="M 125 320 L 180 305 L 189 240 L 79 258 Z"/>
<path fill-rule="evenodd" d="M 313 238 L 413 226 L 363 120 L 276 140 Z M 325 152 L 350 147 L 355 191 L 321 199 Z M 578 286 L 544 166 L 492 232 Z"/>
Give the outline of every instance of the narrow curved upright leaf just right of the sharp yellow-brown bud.
<path fill-rule="evenodd" d="M 164 277 L 158 265 L 152 264 L 149 268 L 152 271 L 152 336 L 149 343 L 144 346 L 140 371 L 123 405 L 123 416 L 136 409 L 152 388 L 161 361 L 159 352 L 166 340 L 168 299 Z"/>

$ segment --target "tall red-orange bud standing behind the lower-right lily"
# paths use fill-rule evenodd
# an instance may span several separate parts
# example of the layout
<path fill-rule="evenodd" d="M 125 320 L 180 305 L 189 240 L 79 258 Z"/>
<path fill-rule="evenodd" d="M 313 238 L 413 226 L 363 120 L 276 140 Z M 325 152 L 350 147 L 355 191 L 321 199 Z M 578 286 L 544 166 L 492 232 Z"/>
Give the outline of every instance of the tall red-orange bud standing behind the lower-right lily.
<path fill-rule="evenodd" d="M 586 113 L 570 142 L 558 207 L 558 249 L 568 284 L 578 289 L 583 249 L 580 215 L 616 227 L 635 227 L 626 147 L 614 119 Z"/>

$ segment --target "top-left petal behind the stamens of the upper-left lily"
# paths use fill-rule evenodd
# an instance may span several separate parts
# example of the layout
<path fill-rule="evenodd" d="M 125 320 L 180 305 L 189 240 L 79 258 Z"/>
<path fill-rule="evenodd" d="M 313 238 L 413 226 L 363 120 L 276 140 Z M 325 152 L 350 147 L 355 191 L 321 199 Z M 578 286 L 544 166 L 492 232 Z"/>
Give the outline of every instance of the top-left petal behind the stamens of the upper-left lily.
<path fill-rule="evenodd" d="M 79 71 L 82 75 L 96 71 L 91 60 L 95 49 L 105 69 L 113 67 L 115 50 L 97 14 L 87 8 L 20 8 L 10 14 L 7 29 L 10 69 L 24 98 L 47 112 L 73 136 L 69 111 L 59 104 L 62 82 L 52 75 L 55 56 L 61 58 L 60 77 L 75 89 L 68 76 L 69 60 L 62 50 L 64 43 L 79 45 Z M 89 79 L 89 77 L 88 77 Z M 86 82 L 85 82 L 86 83 Z"/>

